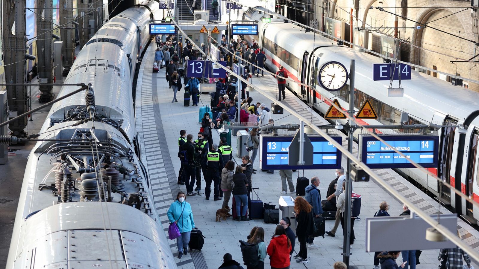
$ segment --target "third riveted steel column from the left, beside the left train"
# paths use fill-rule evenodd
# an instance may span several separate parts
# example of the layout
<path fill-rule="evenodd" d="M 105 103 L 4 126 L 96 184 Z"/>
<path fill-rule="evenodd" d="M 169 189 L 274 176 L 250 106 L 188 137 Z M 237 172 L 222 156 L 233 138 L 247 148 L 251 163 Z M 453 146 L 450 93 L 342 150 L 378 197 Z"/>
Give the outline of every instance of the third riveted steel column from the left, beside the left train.
<path fill-rule="evenodd" d="M 73 0 L 60 0 L 60 25 L 63 25 L 60 34 L 62 47 L 63 76 L 67 76 L 73 65 L 75 55 L 75 36 L 73 25 Z M 65 25 L 64 25 L 65 24 Z"/>

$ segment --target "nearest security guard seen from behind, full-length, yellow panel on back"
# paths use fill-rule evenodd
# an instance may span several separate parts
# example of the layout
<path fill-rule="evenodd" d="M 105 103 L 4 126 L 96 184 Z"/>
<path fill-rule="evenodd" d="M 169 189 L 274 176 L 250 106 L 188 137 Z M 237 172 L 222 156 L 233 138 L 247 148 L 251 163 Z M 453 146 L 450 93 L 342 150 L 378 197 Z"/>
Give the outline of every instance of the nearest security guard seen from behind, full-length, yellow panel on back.
<path fill-rule="evenodd" d="M 209 196 L 211 193 L 211 182 L 214 181 L 215 184 L 215 201 L 221 200 L 220 197 L 223 196 L 223 191 L 219 188 L 219 183 L 221 181 L 220 175 L 221 175 L 221 169 L 225 165 L 223 162 L 223 158 L 221 157 L 221 154 L 217 152 L 218 150 L 218 145 L 213 144 L 211 146 L 211 152 L 208 152 L 206 154 L 206 157 L 204 158 L 206 162 L 206 186 L 205 186 L 205 196 L 206 200 L 209 200 Z"/>

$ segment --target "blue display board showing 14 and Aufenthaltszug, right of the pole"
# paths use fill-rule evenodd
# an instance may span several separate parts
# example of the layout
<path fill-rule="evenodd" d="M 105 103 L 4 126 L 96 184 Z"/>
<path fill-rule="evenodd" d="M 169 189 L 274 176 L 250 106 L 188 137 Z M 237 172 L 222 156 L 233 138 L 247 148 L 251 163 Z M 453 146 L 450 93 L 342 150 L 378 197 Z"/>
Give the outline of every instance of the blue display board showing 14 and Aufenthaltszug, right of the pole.
<path fill-rule="evenodd" d="M 422 167 L 433 168 L 438 165 L 437 135 L 386 134 L 379 137 Z M 415 168 L 404 156 L 371 135 L 360 135 L 359 145 L 359 158 L 370 168 Z"/>

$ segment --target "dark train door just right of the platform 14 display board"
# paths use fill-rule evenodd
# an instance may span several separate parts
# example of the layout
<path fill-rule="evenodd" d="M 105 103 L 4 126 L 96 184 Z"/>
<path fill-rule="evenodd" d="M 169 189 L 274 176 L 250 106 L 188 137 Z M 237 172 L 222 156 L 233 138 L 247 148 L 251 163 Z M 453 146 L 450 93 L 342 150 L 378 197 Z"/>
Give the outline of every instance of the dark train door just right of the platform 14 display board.
<path fill-rule="evenodd" d="M 446 117 L 443 125 L 457 125 L 457 120 Z M 439 169 L 437 176 L 448 184 L 451 183 L 451 163 L 454 147 L 454 134 L 456 128 L 443 127 L 441 132 L 441 152 L 439 154 Z M 438 190 L 439 197 L 443 198 L 447 204 L 451 202 L 451 192 L 449 188 L 443 186 L 442 190 Z"/>

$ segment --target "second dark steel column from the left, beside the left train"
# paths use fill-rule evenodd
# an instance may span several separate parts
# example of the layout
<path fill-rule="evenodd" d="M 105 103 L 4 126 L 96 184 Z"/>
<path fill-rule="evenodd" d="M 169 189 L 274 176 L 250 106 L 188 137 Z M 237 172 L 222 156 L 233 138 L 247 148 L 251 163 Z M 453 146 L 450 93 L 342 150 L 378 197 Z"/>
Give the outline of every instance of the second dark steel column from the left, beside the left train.
<path fill-rule="evenodd" d="M 51 0 L 37 0 L 36 1 L 38 14 L 44 14 L 44 17 L 36 15 L 36 32 L 37 34 L 51 31 L 52 23 L 52 1 Z M 44 9 L 45 8 L 45 9 Z M 45 11 L 45 12 L 44 12 Z M 36 40 L 36 54 L 38 57 L 38 82 L 39 83 L 53 83 L 53 62 L 52 62 L 52 38 L 51 32 L 42 35 Z M 42 95 L 40 102 L 48 102 L 53 99 L 53 86 L 40 86 Z"/>

